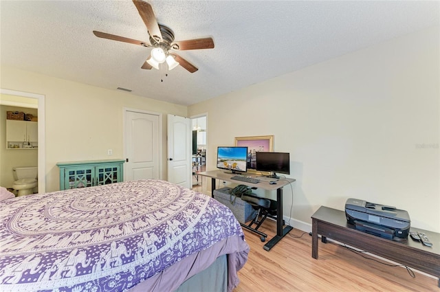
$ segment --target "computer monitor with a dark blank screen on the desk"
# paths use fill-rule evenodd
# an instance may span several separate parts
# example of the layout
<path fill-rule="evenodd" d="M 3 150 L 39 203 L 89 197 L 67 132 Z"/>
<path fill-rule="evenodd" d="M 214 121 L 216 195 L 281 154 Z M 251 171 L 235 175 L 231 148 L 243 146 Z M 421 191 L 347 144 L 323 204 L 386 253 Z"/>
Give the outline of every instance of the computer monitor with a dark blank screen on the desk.
<path fill-rule="evenodd" d="M 256 170 L 268 171 L 270 175 L 279 179 L 276 173 L 290 175 L 290 154 L 281 152 L 256 152 Z"/>

